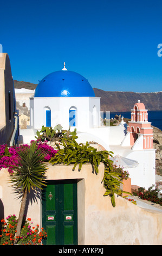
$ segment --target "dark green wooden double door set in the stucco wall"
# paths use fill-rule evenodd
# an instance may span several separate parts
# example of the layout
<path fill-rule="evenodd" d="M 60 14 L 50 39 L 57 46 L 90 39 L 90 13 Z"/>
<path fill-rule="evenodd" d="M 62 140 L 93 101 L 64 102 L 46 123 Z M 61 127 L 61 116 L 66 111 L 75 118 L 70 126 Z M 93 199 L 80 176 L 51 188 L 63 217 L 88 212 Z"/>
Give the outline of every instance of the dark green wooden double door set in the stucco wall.
<path fill-rule="evenodd" d="M 77 245 L 77 182 L 51 180 L 42 192 L 44 245 Z"/>

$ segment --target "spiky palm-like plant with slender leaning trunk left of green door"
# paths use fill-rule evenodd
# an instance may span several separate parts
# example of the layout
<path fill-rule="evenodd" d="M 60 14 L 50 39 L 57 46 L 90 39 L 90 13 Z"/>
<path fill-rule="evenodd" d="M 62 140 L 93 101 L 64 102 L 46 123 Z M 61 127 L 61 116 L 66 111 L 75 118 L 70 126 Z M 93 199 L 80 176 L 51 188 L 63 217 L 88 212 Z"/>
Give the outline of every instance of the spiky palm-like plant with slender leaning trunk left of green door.
<path fill-rule="evenodd" d="M 36 188 L 42 189 L 42 185 L 46 183 L 47 165 L 43 162 L 44 155 L 35 142 L 31 143 L 29 148 L 18 151 L 20 157 L 20 166 L 14 167 L 14 173 L 10 177 L 10 182 L 14 183 L 16 190 L 22 193 L 22 202 L 17 222 L 16 236 L 20 236 L 25 206 L 27 203 L 27 195 L 30 190 Z M 15 243 L 17 240 L 15 240 Z"/>

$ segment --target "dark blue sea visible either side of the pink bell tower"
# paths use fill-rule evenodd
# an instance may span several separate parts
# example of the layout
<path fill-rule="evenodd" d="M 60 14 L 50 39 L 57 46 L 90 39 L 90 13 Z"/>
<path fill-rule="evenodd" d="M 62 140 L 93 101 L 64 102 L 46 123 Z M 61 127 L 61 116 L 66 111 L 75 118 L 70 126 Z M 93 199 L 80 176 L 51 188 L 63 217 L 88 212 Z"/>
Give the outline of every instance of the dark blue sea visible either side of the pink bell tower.
<path fill-rule="evenodd" d="M 162 111 L 147 111 L 148 121 L 151 125 L 158 127 L 162 131 Z M 110 119 L 115 117 L 115 114 L 131 119 L 131 112 L 110 112 Z"/>

